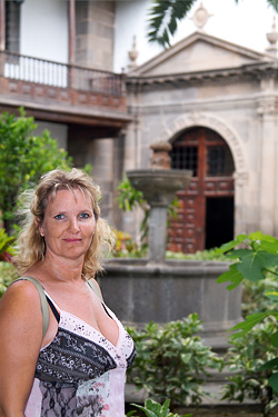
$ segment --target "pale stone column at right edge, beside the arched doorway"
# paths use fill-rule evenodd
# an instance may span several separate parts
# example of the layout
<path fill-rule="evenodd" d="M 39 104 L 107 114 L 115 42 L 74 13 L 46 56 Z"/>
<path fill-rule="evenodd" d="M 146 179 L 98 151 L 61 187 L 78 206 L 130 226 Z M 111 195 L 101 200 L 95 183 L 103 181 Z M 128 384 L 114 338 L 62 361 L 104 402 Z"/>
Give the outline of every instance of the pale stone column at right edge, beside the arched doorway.
<path fill-rule="evenodd" d="M 271 80 L 268 80 L 270 82 Z M 264 234 L 275 234 L 277 224 L 277 102 L 275 96 L 266 95 L 258 107 L 260 117 L 260 216 L 259 227 Z"/>

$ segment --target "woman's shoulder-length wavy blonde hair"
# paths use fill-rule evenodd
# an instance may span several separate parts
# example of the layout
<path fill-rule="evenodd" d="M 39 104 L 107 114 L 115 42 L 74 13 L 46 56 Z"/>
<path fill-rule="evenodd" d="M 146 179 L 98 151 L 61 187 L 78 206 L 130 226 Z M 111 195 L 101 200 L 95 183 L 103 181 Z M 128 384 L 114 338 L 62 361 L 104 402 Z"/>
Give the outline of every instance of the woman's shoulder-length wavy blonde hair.
<path fill-rule="evenodd" d="M 87 195 L 97 220 L 92 242 L 85 256 L 82 274 L 90 279 L 103 269 L 101 262 L 115 244 L 115 235 L 100 217 L 98 205 L 101 197 L 100 188 L 80 169 L 73 168 L 70 172 L 54 169 L 41 177 L 37 189 L 28 190 L 21 196 L 22 209 L 19 215 L 23 216 L 23 221 L 17 241 L 18 255 L 13 258 L 20 275 L 43 259 L 46 244 L 44 238 L 40 236 L 39 226 L 43 221 L 49 198 L 54 198 L 57 191 L 64 189 L 70 191 L 79 189 Z"/>

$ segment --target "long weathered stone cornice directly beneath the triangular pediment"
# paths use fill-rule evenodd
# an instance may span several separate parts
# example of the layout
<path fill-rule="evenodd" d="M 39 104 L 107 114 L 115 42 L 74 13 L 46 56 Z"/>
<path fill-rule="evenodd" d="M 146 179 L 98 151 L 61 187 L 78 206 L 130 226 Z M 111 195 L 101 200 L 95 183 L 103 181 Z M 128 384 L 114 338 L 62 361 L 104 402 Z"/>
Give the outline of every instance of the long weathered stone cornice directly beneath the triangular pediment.
<path fill-rule="evenodd" d="M 278 62 L 276 60 L 207 71 L 161 76 L 129 76 L 127 77 L 127 88 L 129 91 L 162 90 L 181 86 L 198 87 L 211 83 L 260 81 L 269 78 L 278 78 Z"/>

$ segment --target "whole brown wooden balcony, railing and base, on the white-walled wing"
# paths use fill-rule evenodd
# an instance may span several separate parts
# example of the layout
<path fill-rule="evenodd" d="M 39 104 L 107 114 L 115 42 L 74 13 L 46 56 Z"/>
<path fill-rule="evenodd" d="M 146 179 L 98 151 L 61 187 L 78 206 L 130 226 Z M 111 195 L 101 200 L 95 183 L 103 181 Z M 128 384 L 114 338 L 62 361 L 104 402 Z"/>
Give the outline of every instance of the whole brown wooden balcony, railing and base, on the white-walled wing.
<path fill-rule="evenodd" d="M 37 119 L 123 127 L 125 76 L 0 51 L 0 109 L 23 106 Z"/>

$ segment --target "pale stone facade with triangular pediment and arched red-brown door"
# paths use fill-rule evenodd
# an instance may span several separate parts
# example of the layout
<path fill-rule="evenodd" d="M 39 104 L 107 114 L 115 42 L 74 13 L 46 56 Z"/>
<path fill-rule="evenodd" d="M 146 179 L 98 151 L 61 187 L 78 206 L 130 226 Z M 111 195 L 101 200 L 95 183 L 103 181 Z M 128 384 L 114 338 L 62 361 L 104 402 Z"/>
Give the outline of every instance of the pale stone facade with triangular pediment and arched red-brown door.
<path fill-rule="evenodd" d="M 199 23 L 127 79 L 126 169 L 149 167 L 150 143 L 163 140 L 172 168 L 192 170 L 170 230 L 170 248 L 186 252 L 257 229 L 278 235 L 277 32 L 260 53 Z"/>

